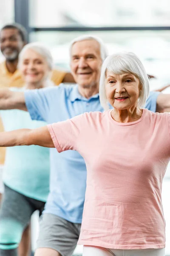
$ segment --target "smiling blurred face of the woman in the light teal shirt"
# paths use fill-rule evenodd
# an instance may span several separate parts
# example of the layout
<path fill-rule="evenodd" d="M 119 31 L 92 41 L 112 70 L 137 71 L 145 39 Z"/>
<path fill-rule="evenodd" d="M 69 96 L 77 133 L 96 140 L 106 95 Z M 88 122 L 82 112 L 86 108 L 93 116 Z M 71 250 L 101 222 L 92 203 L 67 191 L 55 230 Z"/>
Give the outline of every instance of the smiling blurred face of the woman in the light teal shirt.
<path fill-rule="evenodd" d="M 49 75 L 45 58 L 32 49 L 27 49 L 20 63 L 20 70 L 26 83 L 39 83 Z"/>

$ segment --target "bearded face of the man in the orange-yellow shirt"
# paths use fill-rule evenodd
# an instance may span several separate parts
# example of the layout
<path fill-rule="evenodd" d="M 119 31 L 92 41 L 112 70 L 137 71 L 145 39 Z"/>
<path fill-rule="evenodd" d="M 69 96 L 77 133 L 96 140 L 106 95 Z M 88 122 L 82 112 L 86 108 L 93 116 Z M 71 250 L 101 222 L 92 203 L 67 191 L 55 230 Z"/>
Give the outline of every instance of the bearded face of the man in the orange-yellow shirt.
<path fill-rule="evenodd" d="M 25 42 L 17 29 L 3 29 L 0 32 L 0 50 L 7 61 L 17 60 Z"/>

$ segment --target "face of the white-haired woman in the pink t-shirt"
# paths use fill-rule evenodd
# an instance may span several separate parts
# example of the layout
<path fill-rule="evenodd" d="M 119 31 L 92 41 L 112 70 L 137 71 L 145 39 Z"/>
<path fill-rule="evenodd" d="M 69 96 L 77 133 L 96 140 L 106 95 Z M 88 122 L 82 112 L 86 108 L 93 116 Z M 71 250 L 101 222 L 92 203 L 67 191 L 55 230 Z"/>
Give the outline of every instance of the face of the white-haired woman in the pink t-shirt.
<path fill-rule="evenodd" d="M 116 75 L 106 71 L 105 90 L 113 108 L 125 110 L 137 106 L 141 86 L 139 79 L 132 74 Z"/>

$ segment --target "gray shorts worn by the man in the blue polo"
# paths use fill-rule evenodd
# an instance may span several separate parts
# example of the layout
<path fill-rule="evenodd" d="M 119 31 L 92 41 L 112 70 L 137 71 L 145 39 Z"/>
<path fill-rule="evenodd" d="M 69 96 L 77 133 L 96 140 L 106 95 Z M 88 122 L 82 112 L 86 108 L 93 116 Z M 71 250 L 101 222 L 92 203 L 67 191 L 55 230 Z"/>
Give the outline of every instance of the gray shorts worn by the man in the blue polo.
<path fill-rule="evenodd" d="M 71 256 L 79 239 L 81 224 L 66 221 L 57 215 L 44 213 L 40 221 L 37 248 L 51 248 L 62 256 Z"/>

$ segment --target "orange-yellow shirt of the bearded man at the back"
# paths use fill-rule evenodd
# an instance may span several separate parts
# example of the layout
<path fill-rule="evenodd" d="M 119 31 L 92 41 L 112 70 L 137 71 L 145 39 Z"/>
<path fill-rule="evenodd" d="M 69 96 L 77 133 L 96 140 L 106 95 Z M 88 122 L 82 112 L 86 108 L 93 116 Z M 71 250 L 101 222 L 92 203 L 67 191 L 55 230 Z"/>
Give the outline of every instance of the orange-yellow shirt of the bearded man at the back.
<path fill-rule="evenodd" d="M 59 85 L 62 83 L 66 73 L 60 70 L 53 70 L 51 75 L 51 81 L 54 84 Z M 20 70 L 16 70 L 14 73 L 10 73 L 6 67 L 6 61 L 0 63 L 0 88 L 9 87 L 23 87 L 24 80 L 21 76 Z M 0 132 L 4 131 L 2 120 L 0 119 Z M 0 148 L 0 164 L 3 164 L 5 160 L 5 148 Z"/>

